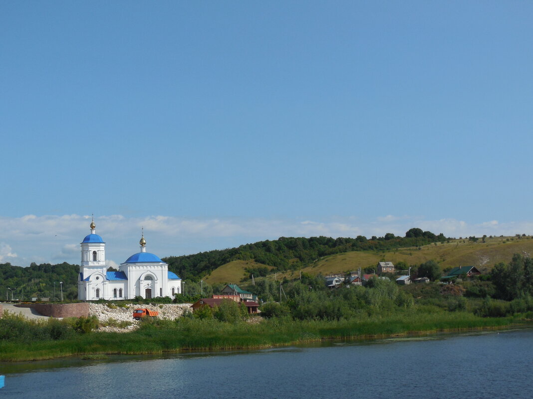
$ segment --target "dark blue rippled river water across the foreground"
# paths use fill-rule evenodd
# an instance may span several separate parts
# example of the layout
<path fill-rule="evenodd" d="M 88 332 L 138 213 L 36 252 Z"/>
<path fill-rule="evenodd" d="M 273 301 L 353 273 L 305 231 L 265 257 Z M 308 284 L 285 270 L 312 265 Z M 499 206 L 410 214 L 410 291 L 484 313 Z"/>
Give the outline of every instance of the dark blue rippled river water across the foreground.
<path fill-rule="evenodd" d="M 531 398 L 533 330 L 2 364 L 0 398 Z"/>

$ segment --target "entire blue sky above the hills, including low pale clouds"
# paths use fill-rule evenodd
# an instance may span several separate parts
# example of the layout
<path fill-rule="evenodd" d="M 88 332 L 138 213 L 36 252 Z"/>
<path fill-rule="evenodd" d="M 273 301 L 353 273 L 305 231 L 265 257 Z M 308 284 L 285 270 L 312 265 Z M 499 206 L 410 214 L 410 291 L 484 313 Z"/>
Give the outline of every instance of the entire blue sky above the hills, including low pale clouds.
<path fill-rule="evenodd" d="M 91 213 L 116 263 L 141 226 L 160 256 L 533 234 L 532 11 L 3 2 L 0 262 L 79 262 Z"/>

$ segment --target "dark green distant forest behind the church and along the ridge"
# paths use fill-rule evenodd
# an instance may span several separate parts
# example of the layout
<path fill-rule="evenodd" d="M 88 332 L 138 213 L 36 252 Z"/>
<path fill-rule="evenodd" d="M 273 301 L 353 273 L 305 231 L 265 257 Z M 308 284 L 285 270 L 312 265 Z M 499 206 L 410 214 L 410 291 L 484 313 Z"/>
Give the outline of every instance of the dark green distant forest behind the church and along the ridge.
<path fill-rule="evenodd" d="M 405 237 L 394 236 L 392 233 L 369 239 L 363 236 L 356 238 L 280 237 L 277 240 L 266 240 L 227 250 L 164 257 L 163 261 L 168 263 L 168 270 L 173 271 L 183 280 L 199 281 L 209 272 L 234 260 L 254 260 L 257 263 L 271 266 L 276 271 L 297 270 L 326 255 L 350 251 L 417 247 L 446 240 L 447 238 L 442 233 L 435 235 L 431 231 L 422 231 L 418 228 L 407 231 Z M 54 298 L 60 300 L 60 281 L 62 281 L 63 298 L 75 300 L 78 292 L 78 272 L 79 265 L 66 262 L 61 264 L 31 263 L 27 268 L 10 263 L 0 264 L 0 298 L 11 300 L 13 296 L 14 299 L 27 301 L 31 297 L 47 297 L 52 301 Z M 262 270 L 256 275 L 263 275 L 265 272 Z"/>

